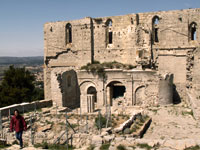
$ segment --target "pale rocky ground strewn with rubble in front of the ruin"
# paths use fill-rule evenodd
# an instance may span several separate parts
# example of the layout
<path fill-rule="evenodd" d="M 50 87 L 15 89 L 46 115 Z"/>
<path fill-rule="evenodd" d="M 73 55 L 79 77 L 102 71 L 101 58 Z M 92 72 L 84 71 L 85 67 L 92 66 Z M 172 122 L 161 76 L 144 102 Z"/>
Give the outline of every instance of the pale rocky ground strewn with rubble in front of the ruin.
<path fill-rule="evenodd" d="M 126 113 L 121 114 L 122 110 L 126 110 Z M 55 108 L 45 108 L 36 113 L 35 121 L 32 120 L 34 143 L 41 145 L 38 148 L 28 146 L 31 143 L 29 127 L 29 130 L 24 133 L 25 150 L 44 149 L 43 143 L 54 144 L 62 134 L 63 137 L 59 143 L 66 142 L 66 118 L 62 111 L 62 109 L 56 111 Z M 193 150 L 200 149 L 198 146 L 200 144 L 199 120 L 194 118 L 193 111 L 186 105 L 179 104 L 145 109 L 135 107 L 121 110 L 112 108 L 112 111 L 112 127 L 102 129 L 101 134 L 95 126 L 95 118 L 98 116 L 98 112 L 81 117 L 77 115 L 78 110 L 68 113 L 68 121 L 76 132 L 74 133 L 69 127 L 69 137 L 71 134 L 73 135 L 73 146 L 77 150 L 190 150 L 189 147 Z M 134 120 L 133 116 L 138 113 L 147 115 L 152 120 L 150 127 L 142 137 L 135 136 L 132 132 L 135 131 L 134 123 L 131 123 L 133 127 L 130 126 L 129 130 L 126 128 L 126 132 L 124 132 L 125 130 L 123 132 L 118 131 L 120 127 L 125 127 L 128 122 L 130 123 L 131 117 Z M 25 114 L 27 122 L 30 122 L 30 115 L 30 113 Z M 127 120 L 129 121 L 127 122 Z M 5 122 L 4 126 L 4 131 L 6 131 L 8 122 Z M 135 132 L 140 134 L 142 129 L 145 128 L 144 126 L 145 120 L 140 127 L 136 128 Z M 6 139 L 10 144 L 15 141 L 13 137 L 14 133 L 6 134 Z M 71 140 L 69 140 L 69 143 L 71 143 Z M 14 144 L 4 149 L 18 149 L 18 145 Z"/>

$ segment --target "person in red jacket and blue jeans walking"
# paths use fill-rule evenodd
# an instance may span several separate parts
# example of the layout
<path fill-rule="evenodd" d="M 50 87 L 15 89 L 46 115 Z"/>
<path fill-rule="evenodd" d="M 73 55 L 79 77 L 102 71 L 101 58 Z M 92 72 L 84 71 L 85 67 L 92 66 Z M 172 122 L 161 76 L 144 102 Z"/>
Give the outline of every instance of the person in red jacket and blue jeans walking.
<path fill-rule="evenodd" d="M 12 117 L 10 121 L 10 131 L 13 132 L 13 129 L 16 132 L 16 138 L 20 142 L 20 148 L 23 148 L 22 134 L 23 134 L 23 131 L 27 130 L 27 125 L 24 120 L 24 117 L 22 117 L 19 114 L 19 111 L 17 109 L 14 110 L 14 116 Z"/>

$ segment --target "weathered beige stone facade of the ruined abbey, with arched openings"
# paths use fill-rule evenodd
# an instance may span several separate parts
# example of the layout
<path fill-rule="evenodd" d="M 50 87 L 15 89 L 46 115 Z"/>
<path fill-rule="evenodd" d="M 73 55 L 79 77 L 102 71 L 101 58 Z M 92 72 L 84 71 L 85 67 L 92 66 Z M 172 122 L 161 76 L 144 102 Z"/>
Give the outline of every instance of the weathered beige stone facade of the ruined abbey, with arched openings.
<path fill-rule="evenodd" d="M 198 8 L 46 23 L 45 98 L 60 106 L 82 106 L 84 112 L 88 100 L 100 108 L 114 105 L 117 96 L 126 105 L 140 106 L 184 100 L 186 88 L 200 90 L 199 18 Z M 137 68 L 106 69 L 106 79 L 81 70 L 95 61 Z M 165 73 L 173 74 L 174 83 L 174 94 L 172 87 L 164 89 L 168 102 L 159 101 L 165 93 L 159 74 Z"/>

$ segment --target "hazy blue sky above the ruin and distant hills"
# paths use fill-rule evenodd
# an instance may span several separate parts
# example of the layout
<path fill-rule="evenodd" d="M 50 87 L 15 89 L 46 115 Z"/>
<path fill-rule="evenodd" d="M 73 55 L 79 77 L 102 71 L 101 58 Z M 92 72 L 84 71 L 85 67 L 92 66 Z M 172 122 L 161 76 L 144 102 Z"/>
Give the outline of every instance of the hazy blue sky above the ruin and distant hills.
<path fill-rule="evenodd" d="M 200 0 L 0 0 L 0 56 L 43 55 L 49 21 L 200 8 Z"/>

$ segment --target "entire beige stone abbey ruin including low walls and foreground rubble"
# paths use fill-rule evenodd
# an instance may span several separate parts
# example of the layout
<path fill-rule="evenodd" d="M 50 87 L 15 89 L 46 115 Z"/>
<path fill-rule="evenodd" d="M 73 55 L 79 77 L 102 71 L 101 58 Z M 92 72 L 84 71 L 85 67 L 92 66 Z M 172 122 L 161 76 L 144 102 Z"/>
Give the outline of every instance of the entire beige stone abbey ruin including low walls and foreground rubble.
<path fill-rule="evenodd" d="M 45 100 L 1 108 L 0 136 L 18 108 L 28 150 L 200 149 L 199 26 L 200 8 L 46 23 Z"/>

